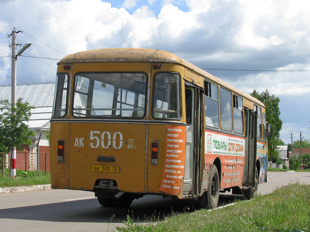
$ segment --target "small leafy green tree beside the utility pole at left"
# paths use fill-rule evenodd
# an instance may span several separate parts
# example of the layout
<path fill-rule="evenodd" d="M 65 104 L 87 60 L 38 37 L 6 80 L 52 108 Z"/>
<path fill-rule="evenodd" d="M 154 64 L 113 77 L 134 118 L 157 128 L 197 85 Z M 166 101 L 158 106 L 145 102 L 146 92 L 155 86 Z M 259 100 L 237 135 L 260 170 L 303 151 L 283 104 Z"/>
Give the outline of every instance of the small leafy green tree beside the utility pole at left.
<path fill-rule="evenodd" d="M 14 147 L 20 149 L 22 144 L 32 144 L 29 138 L 34 134 L 25 122 L 29 121 L 30 111 L 34 107 L 22 102 L 22 98 L 16 101 L 15 107 L 8 100 L 1 100 L 0 106 L 1 148 L 12 151 Z"/>

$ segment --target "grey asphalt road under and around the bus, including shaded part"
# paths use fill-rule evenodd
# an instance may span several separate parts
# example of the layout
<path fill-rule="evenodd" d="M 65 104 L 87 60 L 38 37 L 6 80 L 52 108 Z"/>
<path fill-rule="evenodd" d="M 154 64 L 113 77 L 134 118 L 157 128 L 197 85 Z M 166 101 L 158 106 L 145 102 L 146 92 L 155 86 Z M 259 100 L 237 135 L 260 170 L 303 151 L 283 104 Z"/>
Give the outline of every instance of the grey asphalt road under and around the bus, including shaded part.
<path fill-rule="evenodd" d="M 310 173 L 269 172 L 268 183 L 259 185 L 267 194 L 288 183 L 310 184 Z M 222 194 L 220 203 L 230 203 L 236 195 Z M 113 231 L 124 226 L 130 215 L 137 222 L 163 219 L 173 212 L 183 212 L 177 202 L 160 196 L 134 200 L 130 208 L 102 207 L 94 193 L 74 190 L 0 194 L 1 231 Z"/>

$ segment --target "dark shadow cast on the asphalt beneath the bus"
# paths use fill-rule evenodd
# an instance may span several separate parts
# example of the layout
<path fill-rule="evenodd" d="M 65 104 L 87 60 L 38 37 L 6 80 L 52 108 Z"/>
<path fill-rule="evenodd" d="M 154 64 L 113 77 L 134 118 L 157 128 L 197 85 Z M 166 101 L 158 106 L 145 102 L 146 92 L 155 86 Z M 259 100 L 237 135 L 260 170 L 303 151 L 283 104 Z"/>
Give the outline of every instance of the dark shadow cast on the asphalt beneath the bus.
<path fill-rule="evenodd" d="M 242 199 L 238 195 L 220 195 L 219 205 Z M 186 209 L 188 210 L 188 209 Z M 188 211 L 191 211 L 188 210 Z M 184 205 L 161 196 L 144 196 L 129 208 L 102 207 L 96 198 L 69 202 L 0 209 L 0 218 L 56 222 L 119 223 L 130 215 L 135 222 L 158 221 L 173 213 L 183 213 Z"/>

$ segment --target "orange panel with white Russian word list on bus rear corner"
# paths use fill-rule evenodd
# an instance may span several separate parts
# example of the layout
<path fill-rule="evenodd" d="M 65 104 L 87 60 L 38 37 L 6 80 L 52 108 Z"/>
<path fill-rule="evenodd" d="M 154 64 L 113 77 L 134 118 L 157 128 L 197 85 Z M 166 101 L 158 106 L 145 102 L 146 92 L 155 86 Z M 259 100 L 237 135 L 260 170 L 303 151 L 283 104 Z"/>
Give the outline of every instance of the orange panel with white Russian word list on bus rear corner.
<path fill-rule="evenodd" d="M 177 194 L 184 176 L 186 127 L 166 125 L 166 151 L 159 191 Z"/>

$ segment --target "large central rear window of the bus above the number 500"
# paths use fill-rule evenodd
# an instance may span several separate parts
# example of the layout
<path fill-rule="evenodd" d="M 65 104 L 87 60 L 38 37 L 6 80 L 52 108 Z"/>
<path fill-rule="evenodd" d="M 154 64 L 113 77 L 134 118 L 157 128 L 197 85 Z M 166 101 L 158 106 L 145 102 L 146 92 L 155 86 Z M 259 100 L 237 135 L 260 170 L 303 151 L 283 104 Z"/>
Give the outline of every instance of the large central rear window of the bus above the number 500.
<path fill-rule="evenodd" d="M 75 78 L 73 115 L 142 118 L 145 92 L 144 73 L 80 73 Z"/>

